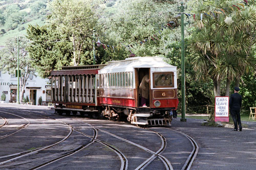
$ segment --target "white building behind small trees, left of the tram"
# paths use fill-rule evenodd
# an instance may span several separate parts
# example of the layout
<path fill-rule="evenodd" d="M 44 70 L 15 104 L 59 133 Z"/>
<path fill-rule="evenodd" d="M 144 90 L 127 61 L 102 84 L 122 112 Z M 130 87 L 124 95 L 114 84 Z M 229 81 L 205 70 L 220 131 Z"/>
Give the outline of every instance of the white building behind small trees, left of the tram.
<path fill-rule="evenodd" d="M 20 82 L 19 82 L 20 84 Z M 6 94 L 5 103 L 16 103 L 17 101 L 17 78 L 15 75 L 3 74 L 0 71 L 0 95 Z M 22 95 L 22 92 L 19 92 Z M 38 99 L 42 98 L 43 103 L 51 102 L 51 83 L 49 79 L 42 79 L 33 74 L 29 75 L 25 86 L 24 98 L 28 96 L 32 105 L 38 105 Z"/>

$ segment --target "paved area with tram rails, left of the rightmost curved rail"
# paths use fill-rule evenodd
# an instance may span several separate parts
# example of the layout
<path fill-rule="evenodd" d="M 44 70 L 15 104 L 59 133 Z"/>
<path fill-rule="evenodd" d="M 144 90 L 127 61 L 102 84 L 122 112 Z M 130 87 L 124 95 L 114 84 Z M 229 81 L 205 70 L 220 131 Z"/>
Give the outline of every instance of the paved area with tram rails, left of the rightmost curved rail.
<path fill-rule="evenodd" d="M 188 138 L 170 127 L 144 129 L 105 119 L 59 116 L 47 107 L 0 107 L 2 124 L 3 118 L 8 120 L 0 136 L 16 131 L 0 139 L 4 169 L 181 169 L 193 150 Z M 179 144 L 186 147 L 180 150 Z"/>

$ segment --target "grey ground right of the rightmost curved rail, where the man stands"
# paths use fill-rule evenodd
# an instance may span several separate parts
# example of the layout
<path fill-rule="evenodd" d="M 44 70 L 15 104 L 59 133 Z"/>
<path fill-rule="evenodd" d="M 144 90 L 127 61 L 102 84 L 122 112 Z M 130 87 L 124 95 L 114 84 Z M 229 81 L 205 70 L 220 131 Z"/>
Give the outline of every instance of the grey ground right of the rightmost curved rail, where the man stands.
<path fill-rule="evenodd" d="M 242 122 L 246 126 L 240 132 L 232 127 L 202 126 L 202 119 L 186 119 L 174 119 L 172 129 L 193 137 L 199 145 L 191 169 L 255 169 L 256 122 Z"/>

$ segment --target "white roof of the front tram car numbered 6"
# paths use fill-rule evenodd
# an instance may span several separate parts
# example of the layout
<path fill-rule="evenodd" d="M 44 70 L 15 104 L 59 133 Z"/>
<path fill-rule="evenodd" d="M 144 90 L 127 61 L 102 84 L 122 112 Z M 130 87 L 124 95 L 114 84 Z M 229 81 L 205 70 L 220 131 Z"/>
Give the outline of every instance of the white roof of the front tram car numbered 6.
<path fill-rule="evenodd" d="M 133 57 L 126 58 L 120 61 L 110 61 L 108 64 L 99 70 L 99 74 L 110 72 L 128 72 L 133 71 L 134 68 L 173 68 L 176 66 L 167 64 L 163 61 L 163 57 Z"/>

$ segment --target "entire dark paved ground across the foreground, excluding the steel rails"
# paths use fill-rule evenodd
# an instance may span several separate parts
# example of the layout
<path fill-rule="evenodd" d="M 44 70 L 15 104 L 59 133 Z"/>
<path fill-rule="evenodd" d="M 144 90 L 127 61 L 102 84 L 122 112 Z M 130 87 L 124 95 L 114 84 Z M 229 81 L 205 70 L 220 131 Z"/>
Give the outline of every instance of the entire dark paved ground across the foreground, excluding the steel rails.
<path fill-rule="evenodd" d="M 10 106 L 14 107 L 14 105 L 0 105 L 0 108 L 3 110 L 5 107 Z M 59 117 L 47 107 L 24 105 L 20 109 L 38 111 L 44 110 L 46 113 Z M 27 118 L 32 120 L 31 122 L 33 125 L 36 125 L 36 122 L 38 121 L 36 121 L 36 118 L 34 117 L 33 122 L 33 116 L 31 116 L 32 115 Z M 88 125 L 98 129 L 103 129 L 106 132 L 111 132 L 134 143 L 139 143 L 142 147 L 148 148 L 153 152 L 156 152 L 159 149 L 161 140 L 159 139 L 159 136 L 152 133 L 152 131 L 158 132 L 164 135 L 167 141 L 167 147 L 164 152 L 161 153 L 161 155 L 166 157 L 170 163 L 172 163 L 174 169 L 182 168 L 183 163 L 186 161 L 186 158 L 190 153 L 191 144 L 184 136 L 179 135 L 172 130 L 180 131 L 189 135 L 195 139 L 199 145 L 198 155 L 190 169 L 255 169 L 256 122 L 242 122 L 242 124 L 247 125 L 247 128 L 243 128 L 242 132 L 234 132 L 232 131 L 232 128 L 201 126 L 203 123 L 202 119 L 186 118 L 187 122 L 180 122 L 180 119 L 174 119 L 172 128 L 154 127 L 148 129 L 141 129 L 126 123 L 116 123 L 107 120 L 98 121 L 96 119 L 83 119 L 76 117 L 62 117 L 61 120 L 65 120 L 65 122 L 69 125 L 72 125 L 79 131 L 87 133 L 90 136 L 93 136 L 93 131 Z M 25 122 L 25 120 L 23 121 Z M 23 124 L 25 124 L 24 122 Z M 0 125 L 3 123 L 4 119 L 0 119 Z M 52 123 L 53 122 L 51 122 L 51 124 Z M 56 127 L 64 126 L 60 122 L 55 123 Z M 47 122 L 45 122 L 45 124 L 48 125 L 49 129 L 51 129 L 51 124 L 48 124 Z M 40 126 L 42 125 L 40 124 Z M 54 142 L 56 141 L 57 137 L 61 138 L 66 136 L 69 128 L 67 126 L 64 127 L 66 130 L 65 128 L 59 128 L 59 132 L 56 133 L 56 131 L 54 131 L 54 134 L 58 134 L 58 136 L 52 135 L 53 138 L 41 141 L 45 141 L 47 143 Z M 135 133 L 137 135 L 134 135 Z M 41 134 L 38 133 L 33 135 L 40 136 Z M 75 135 L 73 139 L 76 138 L 78 139 L 78 142 L 76 143 L 77 146 L 81 143 L 86 145 L 87 143 L 91 142 L 89 140 L 90 138 L 85 141 L 84 136 L 82 135 Z M 127 144 L 127 142 L 120 141 L 119 139 L 117 140 L 115 137 L 103 133 L 102 131 L 98 132 L 98 139 L 111 143 L 115 146 L 115 148 L 120 149 L 129 162 L 128 169 L 135 169 L 139 164 L 141 164 L 141 162 L 151 156 L 151 154 L 148 152 L 137 152 L 140 149 L 134 147 L 132 144 Z M 7 147 L 8 144 L 10 145 L 10 143 L 3 143 L 3 139 L 2 141 L 0 140 L 0 143 L 0 151 L 4 151 L 3 146 Z M 44 143 L 41 143 L 41 145 L 42 144 Z M 34 148 L 34 146 L 28 145 L 28 143 L 26 147 L 28 149 Z M 97 148 L 97 152 L 95 152 L 95 148 Z M 22 151 L 22 148 L 19 146 L 14 147 L 13 149 Z M 50 151 L 54 152 L 54 150 L 57 150 L 57 148 Z M 2 152 L 0 156 L 3 156 L 4 154 L 6 153 Z M 87 162 L 87 165 L 85 166 L 81 162 Z M 94 142 L 91 147 L 86 148 L 83 152 L 78 152 L 69 158 L 63 158 L 59 161 L 44 166 L 41 169 L 90 169 L 92 167 L 94 167 L 94 169 L 120 169 L 120 158 L 114 154 L 113 151 L 104 147 L 102 144 Z M 26 169 L 26 167 L 24 169 Z M 155 159 L 146 167 L 146 169 L 165 169 L 165 167 L 160 159 Z"/>

